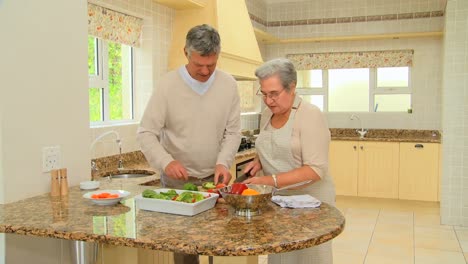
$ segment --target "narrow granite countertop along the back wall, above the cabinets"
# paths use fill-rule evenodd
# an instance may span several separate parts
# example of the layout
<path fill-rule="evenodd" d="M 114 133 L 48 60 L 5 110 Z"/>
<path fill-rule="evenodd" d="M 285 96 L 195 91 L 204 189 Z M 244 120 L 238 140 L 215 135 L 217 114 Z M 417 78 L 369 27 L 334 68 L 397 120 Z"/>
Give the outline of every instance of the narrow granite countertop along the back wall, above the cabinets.
<path fill-rule="evenodd" d="M 331 128 L 330 132 L 332 140 L 441 143 L 436 130 L 369 129 L 363 139 L 352 128 Z"/>

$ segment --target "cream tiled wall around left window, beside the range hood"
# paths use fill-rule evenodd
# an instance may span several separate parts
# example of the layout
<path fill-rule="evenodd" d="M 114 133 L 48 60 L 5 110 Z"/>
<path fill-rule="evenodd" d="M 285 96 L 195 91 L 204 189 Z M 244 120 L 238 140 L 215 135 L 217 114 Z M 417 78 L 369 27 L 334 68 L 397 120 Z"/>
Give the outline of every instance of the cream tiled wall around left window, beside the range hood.
<path fill-rule="evenodd" d="M 123 152 L 136 151 L 140 149 L 136 141 L 138 123 L 153 92 L 154 84 L 167 72 L 174 10 L 152 0 L 91 0 L 90 2 L 143 19 L 141 46 L 134 49 L 135 122 L 91 128 L 89 138 L 91 144 L 102 133 L 114 130 L 121 137 Z M 91 157 L 99 158 L 117 153 L 118 147 L 114 136 L 108 136 L 96 143 L 91 151 Z"/>

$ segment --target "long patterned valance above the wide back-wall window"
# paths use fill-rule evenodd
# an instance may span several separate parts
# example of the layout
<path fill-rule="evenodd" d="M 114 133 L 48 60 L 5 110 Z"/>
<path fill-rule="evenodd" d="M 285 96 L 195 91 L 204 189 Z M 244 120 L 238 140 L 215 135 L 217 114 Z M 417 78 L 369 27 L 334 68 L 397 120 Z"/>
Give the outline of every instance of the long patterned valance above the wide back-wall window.
<path fill-rule="evenodd" d="M 296 70 L 404 67 L 413 65 L 413 50 L 304 53 L 286 56 Z"/>

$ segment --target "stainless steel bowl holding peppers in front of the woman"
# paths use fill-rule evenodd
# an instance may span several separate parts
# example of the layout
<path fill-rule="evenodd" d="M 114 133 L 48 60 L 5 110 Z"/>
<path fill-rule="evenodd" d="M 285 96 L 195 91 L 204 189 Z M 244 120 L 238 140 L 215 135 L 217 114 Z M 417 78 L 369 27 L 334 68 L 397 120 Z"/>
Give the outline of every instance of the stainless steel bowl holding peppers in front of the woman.
<path fill-rule="evenodd" d="M 271 201 L 271 196 L 275 188 L 269 185 L 259 184 L 247 184 L 247 187 L 258 191 L 260 194 L 231 194 L 231 185 L 219 189 L 219 192 L 226 203 L 235 209 L 237 215 L 247 217 L 259 215 L 261 213 L 261 209 Z"/>

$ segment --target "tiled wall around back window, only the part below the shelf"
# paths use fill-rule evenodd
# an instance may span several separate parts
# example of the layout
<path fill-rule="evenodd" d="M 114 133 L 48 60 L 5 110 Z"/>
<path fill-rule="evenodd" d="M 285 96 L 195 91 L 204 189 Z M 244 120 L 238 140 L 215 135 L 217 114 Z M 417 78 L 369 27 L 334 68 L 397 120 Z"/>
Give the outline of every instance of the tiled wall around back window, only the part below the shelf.
<path fill-rule="evenodd" d="M 413 113 L 358 113 L 366 128 L 441 129 L 442 40 L 439 38 L 267 45 L 267 60 L 291 53 L 414 49 Z M 350 113 L 326 113 L 330 127 L 358 127 Z"/>

